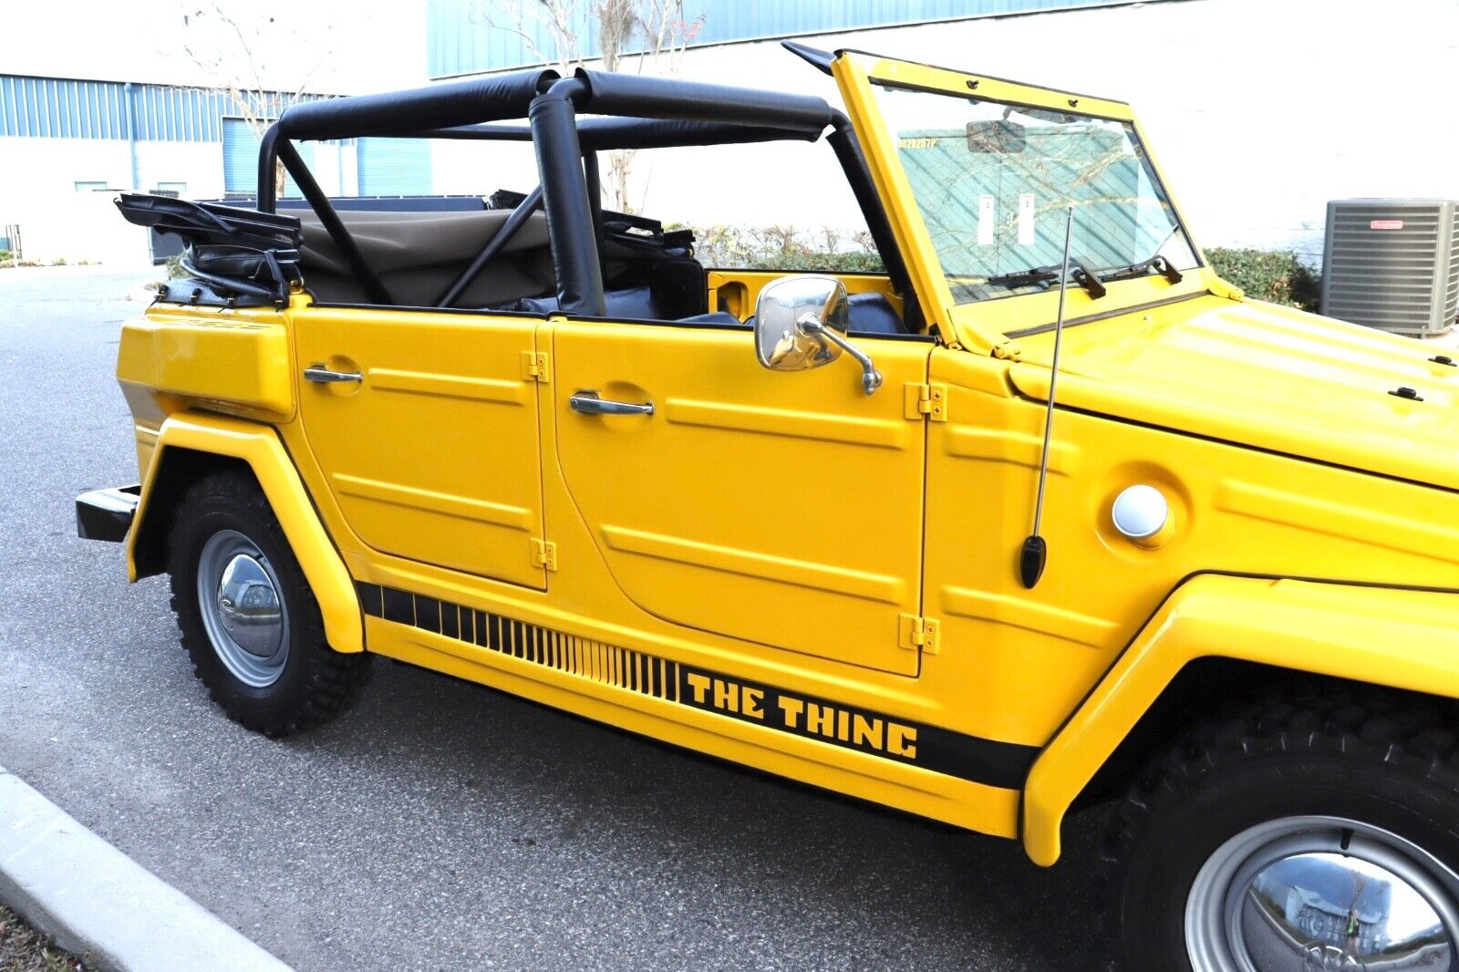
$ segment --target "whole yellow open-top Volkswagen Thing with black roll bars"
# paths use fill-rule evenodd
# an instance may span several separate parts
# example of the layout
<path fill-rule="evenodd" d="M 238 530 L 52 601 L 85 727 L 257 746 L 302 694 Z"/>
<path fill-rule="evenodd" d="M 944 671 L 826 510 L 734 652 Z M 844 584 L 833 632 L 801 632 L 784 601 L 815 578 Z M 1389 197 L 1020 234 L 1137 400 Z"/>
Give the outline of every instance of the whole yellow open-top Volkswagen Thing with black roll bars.
<path fill-rule="evenodd" d="M 1122 801 L 1123 968 L 1459 968 L 1455 363 L 1246 301 L 1123 102 L 788 47 L 842 108 L 534 70 L 295 105 L 257 209 L 123 196 L 187 277 L 82 536 L 270 736 L 384 655 L 1042 865 Z M 540 185 L 337 209 L 298 143 L 359 136 Z M 600 203 L 601 153 L 754 142 L 832 152 L 886 271 Z"/>

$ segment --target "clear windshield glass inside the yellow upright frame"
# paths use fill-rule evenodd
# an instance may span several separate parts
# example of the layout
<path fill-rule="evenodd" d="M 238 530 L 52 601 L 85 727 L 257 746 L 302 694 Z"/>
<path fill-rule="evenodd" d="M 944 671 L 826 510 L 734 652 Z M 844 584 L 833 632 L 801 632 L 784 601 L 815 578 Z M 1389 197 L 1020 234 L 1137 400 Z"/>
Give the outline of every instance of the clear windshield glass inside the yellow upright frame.
<path fill-rule="evenodd" d="M 1058 286 L 1071 203 L 1071 264 L 1080 258 L 1106 279 L 1156 255 L 1176 270 L 1198 264 L 1132 124 L 874 90 L 954 302 Z"/>

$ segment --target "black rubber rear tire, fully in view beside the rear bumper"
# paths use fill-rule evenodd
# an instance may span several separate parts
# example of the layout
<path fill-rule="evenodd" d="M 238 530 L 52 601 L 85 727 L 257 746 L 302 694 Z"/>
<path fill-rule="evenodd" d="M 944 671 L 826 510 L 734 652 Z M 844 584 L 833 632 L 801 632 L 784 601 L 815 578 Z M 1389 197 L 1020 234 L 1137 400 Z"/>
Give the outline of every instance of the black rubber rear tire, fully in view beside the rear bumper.
<path fill-rule="evenodd" d="M 289 649 L 267 686 L 251 686 L 229 670 L 198 604 L 198 560 L 209 539 L 225 530 L 257 546 L 279 581 L 286 607 Z M 193 671 L 229 718 L 266 736 L 287 736 L 327 722 L 359 701 L 371 657 L 330 648 L 314 593 L 252 476 L 214 473 L 188 487 L 174 514 L 168 546 L 172 612 L 182 647 Z"/>

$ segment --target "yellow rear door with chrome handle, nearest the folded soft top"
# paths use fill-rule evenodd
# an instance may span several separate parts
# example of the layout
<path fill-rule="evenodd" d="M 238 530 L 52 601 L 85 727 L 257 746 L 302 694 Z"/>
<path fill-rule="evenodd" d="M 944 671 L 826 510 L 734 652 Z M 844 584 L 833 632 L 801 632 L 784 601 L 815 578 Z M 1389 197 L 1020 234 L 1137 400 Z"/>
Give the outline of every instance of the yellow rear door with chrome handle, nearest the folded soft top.
<path fill-rule="evenodd" d="M 546 588 L 530 377 L 538 325 L 441 311 L 293 312 L 301 369 L 359 375 L 302 379 L 299 403 L 309 448 L 365 544 Z"/>

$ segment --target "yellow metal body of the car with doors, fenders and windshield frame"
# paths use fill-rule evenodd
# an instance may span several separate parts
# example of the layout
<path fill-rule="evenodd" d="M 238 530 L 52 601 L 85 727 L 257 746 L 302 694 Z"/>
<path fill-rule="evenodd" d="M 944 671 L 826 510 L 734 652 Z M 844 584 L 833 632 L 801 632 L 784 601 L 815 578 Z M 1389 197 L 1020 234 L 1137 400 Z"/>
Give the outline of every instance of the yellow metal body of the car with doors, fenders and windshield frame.
<path fill-rule="evenodd" d="M 1132 114 L 871 55 L 833 70 L 938 336 L 856 337 L 880 391 L 845 362 L 767 372 L 728 330 L 321 306 L 308 280 L 283 308 L 158 304 L 118 362 L 131 575 L 160 569 L 153 511 L 182 457 L 247 463 L 334 649 L 1021 839 L 1045 865 L 1201 658 L 1459 698 L 1459 371 L 1204 263 L 1097 302 L 1068 288 L 1030 590 L 1058 295 L 954 302 L 870 86 Z M 712 306 L 744 318 L 773 276 L 712 271 Z M 311 363 L 362 379 L 309 384 Z M 579 414 L 588 388 L 655 412 Z M 1112 524 L 1137 483 L 1170 502 L 1157 544 Z"/>

